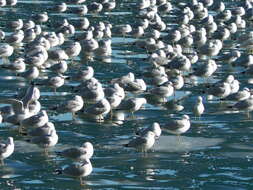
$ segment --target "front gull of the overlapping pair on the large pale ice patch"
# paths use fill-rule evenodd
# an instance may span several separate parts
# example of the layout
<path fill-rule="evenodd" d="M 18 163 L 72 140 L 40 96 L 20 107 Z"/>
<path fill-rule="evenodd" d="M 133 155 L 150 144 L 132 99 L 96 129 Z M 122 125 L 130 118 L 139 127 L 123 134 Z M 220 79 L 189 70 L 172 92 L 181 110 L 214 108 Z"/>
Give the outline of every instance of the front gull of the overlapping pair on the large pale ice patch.
<path fill-rule="evenodd" d="M 135 148 L 141 152 L 147 152 L 147 150 L 151 149 L 155 144 L 155 133 L 152 131 L 148 131 L 143 136 L 137 136 L 130 140 L 125 147 Z"/>

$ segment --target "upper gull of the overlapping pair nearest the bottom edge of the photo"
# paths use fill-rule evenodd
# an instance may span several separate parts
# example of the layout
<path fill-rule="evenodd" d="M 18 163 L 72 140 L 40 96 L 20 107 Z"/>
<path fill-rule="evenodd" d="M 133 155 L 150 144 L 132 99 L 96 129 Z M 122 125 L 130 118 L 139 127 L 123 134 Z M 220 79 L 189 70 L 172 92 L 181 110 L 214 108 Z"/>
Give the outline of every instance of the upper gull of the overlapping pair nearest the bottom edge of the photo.
<path fill-rule="evenodd" d="M 81 147 L 68 148 L 56 153 L 72 160 L 83 161 L 90 159 L 93 155 L 93 152 L 93 145 L 90 142 L 85 142 Z"/>

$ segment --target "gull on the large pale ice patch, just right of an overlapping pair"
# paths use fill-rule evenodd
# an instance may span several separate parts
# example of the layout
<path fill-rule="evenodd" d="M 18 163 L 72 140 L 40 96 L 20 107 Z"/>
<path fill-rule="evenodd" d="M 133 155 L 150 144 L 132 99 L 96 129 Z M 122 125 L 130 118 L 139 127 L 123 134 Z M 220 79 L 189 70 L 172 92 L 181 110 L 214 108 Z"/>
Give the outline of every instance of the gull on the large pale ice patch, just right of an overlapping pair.
<path fill-rule="evenodd" d="M 164 130 L 175 135 L 181 135 L 190 129 L 191 122 L 188 115 L 183 115 L 181 119 L 170 120 L 164 125 Z"/>

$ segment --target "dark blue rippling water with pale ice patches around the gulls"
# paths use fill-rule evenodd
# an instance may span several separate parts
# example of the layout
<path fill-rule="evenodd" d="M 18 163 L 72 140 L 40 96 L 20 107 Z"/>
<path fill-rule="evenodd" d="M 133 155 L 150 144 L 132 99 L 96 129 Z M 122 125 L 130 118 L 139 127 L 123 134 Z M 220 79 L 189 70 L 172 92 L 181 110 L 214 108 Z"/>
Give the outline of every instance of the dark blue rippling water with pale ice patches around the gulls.
<path fill-rule="evenodd" d="M 32 13 L 48 10 L 56 1 L 19 0 L 13 8 L 0 8 L 0 28 L 10 32 L 6 23 L 10 20 L 22 18 L 27 20 Z M 60 2 L 60 1 L 57 1 Z M 87 1 L 89 2 L 89 1 Z M 117 1 L 117 7 L 109 16 L 107 14 L 88 14 L 91 24 L 99 20 L 108 19 L 112 25 L 128 23 L 135 19 L 133 7 L 135 1 Z M 172 1 L 175 3 L 177 1 Z M 226 1 L 228 8 L 232 8 L 240 1 Z M 49 11 L 50 22 L 54 23 L 62 18 L 75 19 L 77 15 L 64 13 L 55 14 Z M 117 15 L 117 16 L 115 16 Z M 173 26 L 169 18 L 168 25 Z M 45 30 L 53 30 L 44 26 Z M 247 30 L 251 30 L 249 26 Z M 242 30 L 243 32 L 243 30 Z M 149 66 L 145 50 L 136 48 L 133 38 L 112 37 L 113 54 L 111 61 L 92 60 L 88 62 L 95 70 L 95 77 L 106 87 L 115 77 L 128 72 L 140 75 Z M 228 47 L 226 51 L 230 51 Z M 219 57 L 218 57 L 219 58 Z M 11 59 L 12 60 L 12 59 Z M 74 60 L 81 67 L 87 64 L 80 58 Z M 222 63 L 219 63 L 222 64 Z M 224 75 L 234 74 L 241 82 L 241 86 L 252 87 L 247 84 L 250 76 L 239 74 L 241 68 L 231 70 L 227 65 L 218 69 L 211 82 L 222 79 Z M 72 75 L 75 68 L 71 67 L 66 75 Z M 49 71 L 44 74 L 50 75 Z M 200 83 L 205 80 L 200 79 Z M 47 87 L 40 87 L 40 102 L 43 109 L 52 104 L 68 99 L 71 87 L 77 85 L 72 81 L 53 93 Z M 0 97 L 12 97 L 28 84 L 14 73 L 0 69 Z M 244 113 L 226 113 L 224 109 L 229 103 L 217 100 L 204 100 L 205 113 L 201 118 L 194 117 L 192 108 L 197 95 L 202 95 L 203 84 L 185 87 L 176 92 L 176 98 L 187 96 L 182 104 L 185 109 L 178 113 L 164 106 L 148 103 L 145 108 L 136 112 L 134 117 L 126 115 L 123 124 L 106 119 L 97 123 L 79 115 L 72 120 L 71 114 L 58 114 L 49 111 L 52 121 L 59 135 L 58 144 L 50 149 L 49 155 L 36 145 L 29 144 L 10 124 L 0 124 L 0 138 L 13 136 L 15 152 L 5 160 L 6 165 L 0 167 L 0 189 L 252 189 L 253 181 L 253 121 Z M 148 86 L 150 87 L 150 86 Z M 17 90 L 18 89 L 18 90 Z M 187 94 L 186 92 L 190 92 Z M 138 95 L 130 95 L 138 96 Z M 173 97 L 171 97 L 173 98 Z M 3 105 L 0 105 L 3 106 Z M 191 117 L 190 130 L 177 137 L 163 133 L 154 147 L 147 154 L 122 148 L 140 126 L 148 126 L 152 122 L 165 123 L 169 118 L 179 118 L 183 114 Z M 54 152 L 71 146 L 80 146 L 90 141 L 94 145 L 94 156 L 91 159 L 93 172 L 85 178 L 85 186 L 80 187 L 78 179 L 54 174 L 57 168 L 63 168 L 71 161 L 57 156 Z"/>

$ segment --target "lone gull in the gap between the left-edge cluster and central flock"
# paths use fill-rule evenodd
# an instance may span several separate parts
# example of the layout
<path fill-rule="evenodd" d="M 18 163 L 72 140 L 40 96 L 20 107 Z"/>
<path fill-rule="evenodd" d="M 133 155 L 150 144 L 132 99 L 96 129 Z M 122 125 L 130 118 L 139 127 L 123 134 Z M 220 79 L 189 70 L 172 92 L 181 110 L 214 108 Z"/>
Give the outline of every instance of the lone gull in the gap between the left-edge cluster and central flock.
<path fill-rule="evenodd" d="M 71 112 L 72 117 L 75 117 L 75 113 L 83 108 L 83 98 L 81 96 L 75 95 L 73 99 L 68 100 L 60 105 L 56 105 L 53 109 L 58 112 Z"/>

